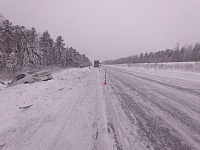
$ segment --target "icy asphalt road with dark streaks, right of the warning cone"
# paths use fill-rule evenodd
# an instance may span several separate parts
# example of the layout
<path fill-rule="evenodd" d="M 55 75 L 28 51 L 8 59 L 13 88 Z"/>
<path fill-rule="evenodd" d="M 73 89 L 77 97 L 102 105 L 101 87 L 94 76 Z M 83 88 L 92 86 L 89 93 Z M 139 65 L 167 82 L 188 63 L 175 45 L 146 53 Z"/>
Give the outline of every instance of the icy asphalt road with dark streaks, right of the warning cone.
<path fill-rule="evenodd" d="M 200 76 L 106 67 L 108 83 L 147 147 L 200 149 Z"/>

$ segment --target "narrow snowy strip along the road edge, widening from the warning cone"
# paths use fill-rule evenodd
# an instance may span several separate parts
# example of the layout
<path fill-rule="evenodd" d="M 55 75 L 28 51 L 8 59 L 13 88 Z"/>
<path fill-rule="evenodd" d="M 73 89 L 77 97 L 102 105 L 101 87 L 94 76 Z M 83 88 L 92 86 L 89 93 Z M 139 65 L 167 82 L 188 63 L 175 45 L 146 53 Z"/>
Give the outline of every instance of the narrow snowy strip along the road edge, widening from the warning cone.
<path fill-rule="evenodd" d="M 104 71 L 102 72 L 102 83 L 104 81 Z M 130 131 L 132 126 L 124 111 L 119 108 L 117 97 L 113 95 L 108 85 L 103 85 L 103 95 L 107 114 L 107 132 L 110 139 L 111 149 L 129 150 L 141 149 L 145 150 L 145 145 L 142 143 L 135 131 Z M 136 129 L 135 129 L 136 130 Z"/>

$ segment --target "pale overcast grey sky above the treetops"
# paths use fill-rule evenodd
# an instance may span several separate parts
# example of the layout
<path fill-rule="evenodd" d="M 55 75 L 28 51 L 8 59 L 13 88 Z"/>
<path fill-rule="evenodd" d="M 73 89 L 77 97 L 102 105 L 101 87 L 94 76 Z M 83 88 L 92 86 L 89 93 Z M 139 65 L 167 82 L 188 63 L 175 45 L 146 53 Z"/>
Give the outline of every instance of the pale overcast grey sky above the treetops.
<path fill-rule="evenodd" d="M 0 13 L 91 60 L 200 42 L 200 0 L 0 0 Z"/>

